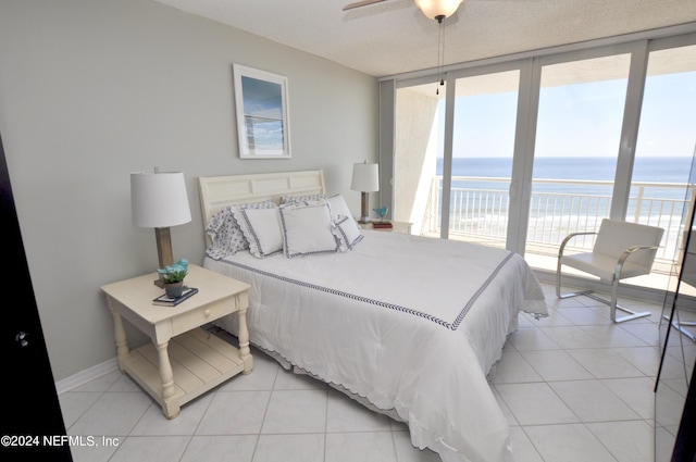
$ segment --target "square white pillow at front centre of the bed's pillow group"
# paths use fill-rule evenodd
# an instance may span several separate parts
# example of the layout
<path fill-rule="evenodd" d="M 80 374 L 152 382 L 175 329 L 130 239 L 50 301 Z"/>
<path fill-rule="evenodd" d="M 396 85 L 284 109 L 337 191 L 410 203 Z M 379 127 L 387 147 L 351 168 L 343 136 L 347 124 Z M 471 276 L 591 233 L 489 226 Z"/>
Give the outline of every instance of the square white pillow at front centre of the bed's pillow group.
<path fill-rule="evenodd" d="M 338 242 L 332 232 L 328 204 L 293 203 L 282 205 L 278 211 L 286 258 L 338 251 Z"/>

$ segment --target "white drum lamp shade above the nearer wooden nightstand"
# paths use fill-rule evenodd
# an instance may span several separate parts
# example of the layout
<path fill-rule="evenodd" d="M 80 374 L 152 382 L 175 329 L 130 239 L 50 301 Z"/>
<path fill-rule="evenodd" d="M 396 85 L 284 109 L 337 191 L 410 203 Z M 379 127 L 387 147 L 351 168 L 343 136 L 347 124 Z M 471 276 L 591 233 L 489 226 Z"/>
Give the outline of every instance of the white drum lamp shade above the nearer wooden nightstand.
<path fill-rule="evenodd" d="M 182 172 L 130 174 L 133 224 L 164 228 L 191 221 L 186 182 Z"/>

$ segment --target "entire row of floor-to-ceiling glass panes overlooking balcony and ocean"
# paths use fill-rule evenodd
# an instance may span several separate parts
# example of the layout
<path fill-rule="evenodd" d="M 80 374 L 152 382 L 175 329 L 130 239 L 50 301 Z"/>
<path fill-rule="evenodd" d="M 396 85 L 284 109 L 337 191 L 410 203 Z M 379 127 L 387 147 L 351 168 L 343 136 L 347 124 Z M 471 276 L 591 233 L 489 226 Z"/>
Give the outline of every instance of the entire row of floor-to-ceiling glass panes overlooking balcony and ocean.
<path fill-rule="evenodd" d="M 395 86 L 393 218 L 414 234 L 507 247 L 552 273 L 560 241 L 604 217 L 679 233 L 696 34 L 464 66 L 438 92 L 437 79 Z"/>

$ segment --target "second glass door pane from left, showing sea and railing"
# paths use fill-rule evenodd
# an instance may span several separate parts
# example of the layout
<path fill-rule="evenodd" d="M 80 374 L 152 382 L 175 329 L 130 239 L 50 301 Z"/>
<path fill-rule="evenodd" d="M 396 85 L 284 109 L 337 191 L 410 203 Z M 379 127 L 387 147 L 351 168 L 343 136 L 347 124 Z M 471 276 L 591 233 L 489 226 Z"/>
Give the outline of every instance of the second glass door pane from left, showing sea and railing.
<path fill-rule="evenodd" d="M 455 79 L 449 220 L 443 237 L 506 247 L 520 71 Z M 443 213 L 440 211 L 440 213 Z"/>

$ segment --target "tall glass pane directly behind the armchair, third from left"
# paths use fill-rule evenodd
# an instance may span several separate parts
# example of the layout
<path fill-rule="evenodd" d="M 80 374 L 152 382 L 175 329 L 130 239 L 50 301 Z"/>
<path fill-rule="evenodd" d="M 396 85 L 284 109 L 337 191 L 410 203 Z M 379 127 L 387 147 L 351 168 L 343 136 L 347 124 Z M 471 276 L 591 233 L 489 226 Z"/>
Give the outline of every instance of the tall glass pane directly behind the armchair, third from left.
<path fill-rule="evenodd" d="M 539 64 L 525 257 L 554 269 L 568 234 L 595 230 L 610 215 L 631 54 Z"/>

